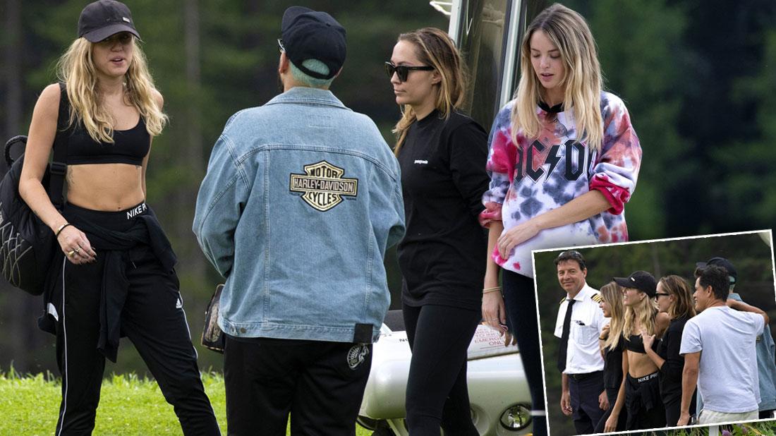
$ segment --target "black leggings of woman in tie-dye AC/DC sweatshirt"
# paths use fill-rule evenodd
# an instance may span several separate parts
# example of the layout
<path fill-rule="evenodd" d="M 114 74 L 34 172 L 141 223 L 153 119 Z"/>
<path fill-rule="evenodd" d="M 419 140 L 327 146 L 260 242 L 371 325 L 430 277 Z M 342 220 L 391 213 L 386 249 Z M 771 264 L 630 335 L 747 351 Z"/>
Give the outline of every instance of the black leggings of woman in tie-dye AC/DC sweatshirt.
<path fill-rule="evenodd" d="M 546 436 L 542 353 L 539 351 L 539 320 L 536 317 L 534 282 L 530 277 L 517 272 L 506 269 L 503 271 L 504 306 L 509 329 L 518 339 L 523 370 L 528 379 L 528 388 L 531 389 L 533 434 Z"/>

